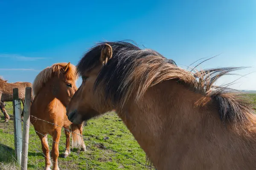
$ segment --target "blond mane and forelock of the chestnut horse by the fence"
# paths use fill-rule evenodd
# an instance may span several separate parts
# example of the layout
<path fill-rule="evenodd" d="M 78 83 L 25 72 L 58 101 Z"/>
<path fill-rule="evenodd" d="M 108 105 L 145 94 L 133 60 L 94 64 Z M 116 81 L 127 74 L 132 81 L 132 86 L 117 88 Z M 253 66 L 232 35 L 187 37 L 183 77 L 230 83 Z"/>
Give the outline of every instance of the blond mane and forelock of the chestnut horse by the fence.
<path fill-rule="evenodd" d="M 39 91 L 42 87 L 44 87 L 45 83 L 47 83 L 50 79 L 55 76 L 59 76 L 61 71 L 64 71 L 64 67 L 67 65 L 66 62 L 55 63 L 50 67 L 42 70 L 36 77 L 33 82 L 32 88 L 34 95 L 38 95 Z M 76 66 L 70 64 L 67 72 L 65 73 L 65 77 L 70 80 L 76 80 L 78 77 L 76 76 Z"/>

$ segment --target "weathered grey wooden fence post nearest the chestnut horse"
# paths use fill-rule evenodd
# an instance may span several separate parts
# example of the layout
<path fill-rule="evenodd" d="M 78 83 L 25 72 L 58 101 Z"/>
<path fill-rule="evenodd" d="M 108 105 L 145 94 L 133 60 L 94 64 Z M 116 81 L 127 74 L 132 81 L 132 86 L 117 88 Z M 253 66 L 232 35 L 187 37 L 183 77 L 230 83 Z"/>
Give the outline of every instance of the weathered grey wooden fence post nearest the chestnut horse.
<path fill-rule="evenodd" d="M 28 167 L 28 150 L 29 150 L 29 122 L 31 106 L 31 88 L 27 87 L 25 91 L 23 134 L 22 134 L 22 155 L 21 170 L 27 170 Z"/>

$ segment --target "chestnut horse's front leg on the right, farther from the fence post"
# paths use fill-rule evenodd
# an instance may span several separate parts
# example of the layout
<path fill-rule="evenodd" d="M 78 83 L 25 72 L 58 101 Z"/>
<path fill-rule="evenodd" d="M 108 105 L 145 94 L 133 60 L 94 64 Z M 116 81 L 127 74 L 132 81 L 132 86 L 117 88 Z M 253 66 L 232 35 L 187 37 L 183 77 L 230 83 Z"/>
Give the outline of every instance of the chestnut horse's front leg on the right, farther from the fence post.
<path fill-rule="evenodd" d="M 52 160 L 53 160 L 52 170 L 59 170 L 59 167 L 58 167 L 58 156 L 59 156 L 58 144 L 60 142 L 60 138 L 61 138 L 61 128 L 58 127 L 52 136 L 52 140 L 53 140 L 52 150 L 51 150 L 51 156 L 52 156 Z"/>

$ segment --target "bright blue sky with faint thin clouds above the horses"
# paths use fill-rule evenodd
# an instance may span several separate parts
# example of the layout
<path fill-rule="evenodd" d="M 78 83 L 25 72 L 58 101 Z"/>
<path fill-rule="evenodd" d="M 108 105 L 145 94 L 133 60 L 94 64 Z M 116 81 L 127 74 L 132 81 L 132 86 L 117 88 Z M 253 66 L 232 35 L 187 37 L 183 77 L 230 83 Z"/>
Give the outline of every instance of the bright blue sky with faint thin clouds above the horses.
<path fill-rule="evenodd" d="M 250 66 L 256 71 L 255 0 L 0 1 L 0 75 L 33 82 L 56 62 L 76 65 L 99 41 L 134 40 L 186 68 Z M 218 85 L 239 76 L 224 77 Z M 256 90 L 256 73 L 231 86 Z"/>

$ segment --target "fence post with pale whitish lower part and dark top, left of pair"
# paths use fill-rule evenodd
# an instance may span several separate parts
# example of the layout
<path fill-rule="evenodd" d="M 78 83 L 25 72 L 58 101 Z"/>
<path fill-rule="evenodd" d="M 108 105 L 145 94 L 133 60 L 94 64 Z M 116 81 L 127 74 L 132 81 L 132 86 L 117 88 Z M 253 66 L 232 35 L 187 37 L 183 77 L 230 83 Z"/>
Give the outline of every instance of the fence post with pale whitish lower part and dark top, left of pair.
<path fill-rule="evenodd" d="M 13 100 L 14 100 L 14 110 L 15 110 L 15 150 L 16 150 L 16 156 L 17 156 L 17 162 L 18 164 L 21 164 L 21 150 L 22 150 L 22 130 L 21 130 L 21 106 L 20 106 L 20 99 L 19 99 L 19 90 L 18 88 L 13 89 Z"/>

